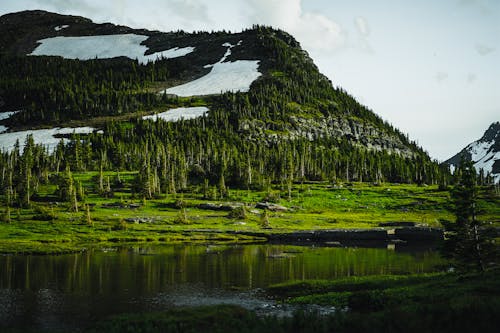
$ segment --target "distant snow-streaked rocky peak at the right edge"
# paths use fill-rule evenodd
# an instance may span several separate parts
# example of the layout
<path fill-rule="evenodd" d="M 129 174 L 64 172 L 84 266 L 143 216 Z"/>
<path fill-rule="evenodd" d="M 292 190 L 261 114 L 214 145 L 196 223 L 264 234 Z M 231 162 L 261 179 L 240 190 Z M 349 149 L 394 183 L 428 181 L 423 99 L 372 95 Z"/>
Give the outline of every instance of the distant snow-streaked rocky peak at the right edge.
<path fill-rule="evenodd" d="M 473 161 L 477 171 L 483 170 L 485 174 L 491 174 L 495 183 L 500 182 L 500 122 L 491 124 L 481 139 L 468 144 L 444 163 L 454 170 L 462 157 Z"/>

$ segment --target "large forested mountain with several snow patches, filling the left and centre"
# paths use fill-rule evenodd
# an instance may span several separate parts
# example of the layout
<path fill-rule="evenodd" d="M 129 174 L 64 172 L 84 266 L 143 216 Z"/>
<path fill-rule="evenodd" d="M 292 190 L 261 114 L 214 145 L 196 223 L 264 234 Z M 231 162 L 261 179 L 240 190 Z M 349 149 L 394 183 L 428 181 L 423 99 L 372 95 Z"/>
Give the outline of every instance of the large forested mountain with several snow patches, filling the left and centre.
<path fill-rule="evenodd" d="M 2 148 L 18 149 L 16 140 L 22 147 L 32 134 L 51 142 L 58 168 L 152 164 L 166 174 L 165 164 L 180 164 L 175 186 L 200 178 L 435 183 L 441 174 L 406 135 L 333 87 L 291 35 L 270 27 L 159 32 L 12 13 L 0 17 L 0 77 L 0 143 L 10 142 Z"/>

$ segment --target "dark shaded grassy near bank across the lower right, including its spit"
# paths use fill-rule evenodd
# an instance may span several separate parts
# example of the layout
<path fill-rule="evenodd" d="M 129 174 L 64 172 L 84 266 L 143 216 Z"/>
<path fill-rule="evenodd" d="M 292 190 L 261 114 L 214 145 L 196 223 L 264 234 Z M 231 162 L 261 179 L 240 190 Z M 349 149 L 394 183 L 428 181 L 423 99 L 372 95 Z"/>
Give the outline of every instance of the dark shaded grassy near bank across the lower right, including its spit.
<path fill-rule="evenodd" d="M 269 292 L 292 295 L 292 302 L 319 302 L 343 310 L 328 316 L 296 312 L 275 318 L 231 305 L 178 308 L 116 316 L 91 332 L 497 332 L 499 273 L 289 283 Z"/>

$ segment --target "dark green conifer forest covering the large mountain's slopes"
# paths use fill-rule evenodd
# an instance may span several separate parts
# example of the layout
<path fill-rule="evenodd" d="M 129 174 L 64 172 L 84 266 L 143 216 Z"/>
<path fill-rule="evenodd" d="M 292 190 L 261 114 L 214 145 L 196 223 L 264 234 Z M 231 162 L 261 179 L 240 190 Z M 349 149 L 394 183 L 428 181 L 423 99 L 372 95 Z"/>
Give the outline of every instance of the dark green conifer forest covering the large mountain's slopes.
<path fill-rule="evenodd" d="M 2 110 L 22 110 L 12 128 L 83 121 L 103 132 L 72 135 L 54 152 L 28 138 L 0 157 L 0 188 L 9 204 L 24 205 L 40 183 L 61 171 L 139 171 L 136 191 L 151 198 L 189 184 L 263 188 L 307 180 L 447 184 L 450 174 L 407 136 L 334 88 L 284 32 L 254 27 L 258 49 L 270 60 L 248 93 L 179 98 L 153 87 L 178 79 L 186 64 L 164 59 L 141 65 L 126 58 L 68 60 L 0 57 Z M 142 120 L 175 106 L 206 105 L 207 116 L 180 122 Z M 407 147 L 369 149 L 348 136 L 286 135 L 293 117 L 369 124 Z M 245 124 L 253 121 L 265 130 Z M 259 126 L 257 126 L 259 127 Z M 59 180 L 57 180 L 59 181 Z"/>

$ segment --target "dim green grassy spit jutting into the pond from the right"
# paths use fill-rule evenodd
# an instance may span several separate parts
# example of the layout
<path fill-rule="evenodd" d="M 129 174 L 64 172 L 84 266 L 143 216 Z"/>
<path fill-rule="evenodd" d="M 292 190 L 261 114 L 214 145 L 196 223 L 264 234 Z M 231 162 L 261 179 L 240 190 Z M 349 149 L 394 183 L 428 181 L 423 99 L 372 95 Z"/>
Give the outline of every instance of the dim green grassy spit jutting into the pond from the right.
<path fill-rule="evenodd" d="M 460 304 L 470 298 L 500 301 L 500 271 L 483 274 L 364 276 L 296 281 L 271 286 L 271 295 L 298 304 L 323 304 L 353 312 L 387 311 L 426 304 Z"/>

